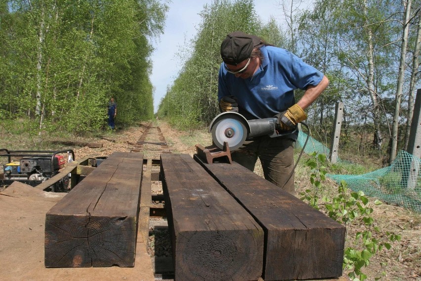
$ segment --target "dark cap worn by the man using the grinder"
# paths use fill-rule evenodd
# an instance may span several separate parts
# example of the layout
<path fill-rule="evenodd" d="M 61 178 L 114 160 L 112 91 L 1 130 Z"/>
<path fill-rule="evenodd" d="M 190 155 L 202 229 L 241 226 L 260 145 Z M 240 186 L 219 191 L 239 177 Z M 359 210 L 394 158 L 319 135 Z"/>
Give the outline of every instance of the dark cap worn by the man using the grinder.
<path fill-rule="evenodd" d="M 261 40 L 255 35 L 241 31 L 231 32 L 221 44 L 222 60 L 227 64 L 237 65 L 237 63 L 248 59 L 253 48 L 259 44 L 261 44 Z"/>

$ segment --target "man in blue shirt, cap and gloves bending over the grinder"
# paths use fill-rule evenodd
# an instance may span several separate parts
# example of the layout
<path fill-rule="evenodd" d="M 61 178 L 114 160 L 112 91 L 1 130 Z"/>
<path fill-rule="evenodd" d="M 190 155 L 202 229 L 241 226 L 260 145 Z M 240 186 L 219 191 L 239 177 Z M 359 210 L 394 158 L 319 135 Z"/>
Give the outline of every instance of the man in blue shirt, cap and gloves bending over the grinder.
<path fill-rule="evenodd" d="M 223 40 L 221 57 L 218 76 L 221 111 L 239 112 L 248 120 L 276 116 L 276 130 L 286 133 L 278 138 L 247 140 L 231 154 L 232 159 L 253 171 L 258 157 L 265 179 L 295 194 L 293 142 L 298 134 L 293 131 L 307 118 L 304 110 L 326 89 L 329 80 L 288 50 L 240 31 Z M 305 92 L 295 103 L 296 89 Z"/>

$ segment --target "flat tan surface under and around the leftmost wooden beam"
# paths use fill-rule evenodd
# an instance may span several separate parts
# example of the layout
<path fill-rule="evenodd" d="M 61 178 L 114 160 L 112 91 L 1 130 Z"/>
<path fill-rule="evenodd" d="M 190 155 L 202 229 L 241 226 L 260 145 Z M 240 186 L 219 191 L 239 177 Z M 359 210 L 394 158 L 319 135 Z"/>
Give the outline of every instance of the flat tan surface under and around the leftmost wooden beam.
<path fill-rule="evenodd" d="M 67 193 L 45 192 L 14 182 L 0 193 L 0 280 L 154 281 L 151 258 L 137 241 L 133 268 L 45 268 L 45 213 Z"/>

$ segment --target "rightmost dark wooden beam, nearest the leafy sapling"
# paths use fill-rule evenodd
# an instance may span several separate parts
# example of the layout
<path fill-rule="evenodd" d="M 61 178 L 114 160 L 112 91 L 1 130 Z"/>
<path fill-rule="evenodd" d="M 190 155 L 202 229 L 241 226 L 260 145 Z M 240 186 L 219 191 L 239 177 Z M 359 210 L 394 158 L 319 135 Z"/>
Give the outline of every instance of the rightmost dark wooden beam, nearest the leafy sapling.
<path fill-rule="evenodd" d="M 345 227 L 236 162 L 194 158 L 263 228 L 265 281 L 342 275 Z"/>

